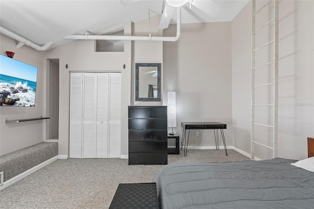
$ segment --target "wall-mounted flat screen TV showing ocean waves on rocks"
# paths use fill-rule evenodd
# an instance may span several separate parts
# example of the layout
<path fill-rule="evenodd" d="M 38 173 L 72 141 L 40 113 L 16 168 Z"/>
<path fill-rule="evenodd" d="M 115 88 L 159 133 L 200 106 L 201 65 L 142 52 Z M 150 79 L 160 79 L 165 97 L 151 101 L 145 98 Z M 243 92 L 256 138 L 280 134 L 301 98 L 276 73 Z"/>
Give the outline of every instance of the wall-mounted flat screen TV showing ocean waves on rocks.
<path fill-rule="evenodd" d="M 34 107 L 38 68 L 0 54 L 0 106 Z"/>

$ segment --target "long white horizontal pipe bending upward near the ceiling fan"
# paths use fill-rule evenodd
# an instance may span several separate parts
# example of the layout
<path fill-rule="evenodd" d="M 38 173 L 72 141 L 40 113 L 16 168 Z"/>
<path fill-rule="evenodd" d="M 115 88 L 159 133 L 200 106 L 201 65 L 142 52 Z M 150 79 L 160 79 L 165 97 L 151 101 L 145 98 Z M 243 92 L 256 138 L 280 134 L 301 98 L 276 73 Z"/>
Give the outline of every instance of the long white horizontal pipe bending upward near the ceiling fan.
<path fill-rule="evenodd" d="M 178 7 L 177 18 L 177 36 L 175 37 L 163 37 L 163 36 L 114 36 L 114 35 L 70 35 L 64 37 L 65 39 L 75 40 L 124 40 L 124 41 L 167 41 L 176 42 L 181 36 L 181 8 Z"/>

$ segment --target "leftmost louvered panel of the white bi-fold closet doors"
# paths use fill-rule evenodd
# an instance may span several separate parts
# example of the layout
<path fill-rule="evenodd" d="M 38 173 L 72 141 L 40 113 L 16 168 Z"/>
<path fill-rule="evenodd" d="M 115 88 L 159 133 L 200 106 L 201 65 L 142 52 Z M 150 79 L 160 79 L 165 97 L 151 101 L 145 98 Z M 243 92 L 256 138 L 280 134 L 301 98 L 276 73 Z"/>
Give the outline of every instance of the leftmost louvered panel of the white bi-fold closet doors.
<path fill-rule="evenodd" d="M 70 158 L 82 158 L 82 73 L 71 73 Z"/>

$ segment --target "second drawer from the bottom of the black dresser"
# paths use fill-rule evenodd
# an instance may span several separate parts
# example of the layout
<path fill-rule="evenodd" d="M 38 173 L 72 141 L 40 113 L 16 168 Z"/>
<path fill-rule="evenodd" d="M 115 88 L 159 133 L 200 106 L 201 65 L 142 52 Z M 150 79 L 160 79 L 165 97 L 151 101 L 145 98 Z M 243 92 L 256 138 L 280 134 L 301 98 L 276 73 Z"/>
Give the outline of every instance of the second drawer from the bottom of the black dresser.
<path fill-rule="evenodd" d="M 129 141 L 129 152 L 168 152 L 168 141 Z"/>

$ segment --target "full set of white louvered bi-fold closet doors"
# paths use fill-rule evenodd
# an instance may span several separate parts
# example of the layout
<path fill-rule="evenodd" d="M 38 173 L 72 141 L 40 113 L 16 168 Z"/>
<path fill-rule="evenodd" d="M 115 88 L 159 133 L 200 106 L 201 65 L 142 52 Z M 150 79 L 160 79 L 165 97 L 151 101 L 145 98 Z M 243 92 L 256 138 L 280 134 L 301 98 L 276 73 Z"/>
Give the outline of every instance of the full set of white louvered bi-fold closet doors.
<path fill-rule="evenodd" d="M 71 72 L 70 77 L 70 158 L 120 158 L 121 72 Z M 104 99 L 107 105 L 98 109 Z"/>

